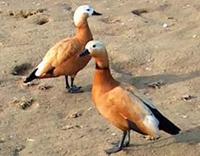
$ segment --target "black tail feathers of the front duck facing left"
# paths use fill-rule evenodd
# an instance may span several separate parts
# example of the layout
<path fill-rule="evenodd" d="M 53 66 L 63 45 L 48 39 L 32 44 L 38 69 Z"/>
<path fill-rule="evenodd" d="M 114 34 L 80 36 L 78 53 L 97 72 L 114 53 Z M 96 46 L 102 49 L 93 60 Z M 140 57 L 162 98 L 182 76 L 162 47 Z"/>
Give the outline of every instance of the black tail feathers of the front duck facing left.
<path fill-rule="evenodd" d="M 178 128 L 170 120 L 168 120 L 166 117 L 164 117 L 157 109 L 150 107 L 148 104 L 146 104 L 146 105 L 152 111 L 152 113 L 154 114 L 156 119 L 158 119 L 160 130 L 163 130 L 163 131 L 165 131 L 169 134 L 172 134 L 172 135 L 176 135 L 181 131 L 180 128 Z"/>

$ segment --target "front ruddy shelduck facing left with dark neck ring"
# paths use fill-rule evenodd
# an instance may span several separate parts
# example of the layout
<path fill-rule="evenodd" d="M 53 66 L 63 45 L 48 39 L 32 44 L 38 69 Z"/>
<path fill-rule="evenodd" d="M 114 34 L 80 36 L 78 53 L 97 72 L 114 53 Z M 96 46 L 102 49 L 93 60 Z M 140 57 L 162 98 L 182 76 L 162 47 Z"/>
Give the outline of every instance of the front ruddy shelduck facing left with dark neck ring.
<path fill-rule="evenodd" d="M 88 42 L 80 57 L 88 55 L 96 61 L 93 102 L 101 115 L 123 131 L 119 144 L 106 150 L 107 154 L 118 152 L 129 145 L 130 130 L 147 135 L 150 139 L 159 138 L 159 130 L 172 135 L 180 132 L 180 128 L 164 117 L 135 87 L 123 85 L 112 77 L 103 43 Z"/>

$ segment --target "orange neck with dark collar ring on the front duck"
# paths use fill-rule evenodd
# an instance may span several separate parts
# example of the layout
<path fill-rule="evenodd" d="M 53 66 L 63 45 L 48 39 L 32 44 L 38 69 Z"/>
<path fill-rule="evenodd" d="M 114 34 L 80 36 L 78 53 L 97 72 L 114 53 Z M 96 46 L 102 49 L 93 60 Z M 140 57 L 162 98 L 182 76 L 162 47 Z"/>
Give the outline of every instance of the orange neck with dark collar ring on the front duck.
<path fill-rule="evenodd" d="M 117 86 L 119 86 L 119 82 L 112 77 L 109 66 L 100 67 L 96 64 L 93 91 L 105 93 Z"/>

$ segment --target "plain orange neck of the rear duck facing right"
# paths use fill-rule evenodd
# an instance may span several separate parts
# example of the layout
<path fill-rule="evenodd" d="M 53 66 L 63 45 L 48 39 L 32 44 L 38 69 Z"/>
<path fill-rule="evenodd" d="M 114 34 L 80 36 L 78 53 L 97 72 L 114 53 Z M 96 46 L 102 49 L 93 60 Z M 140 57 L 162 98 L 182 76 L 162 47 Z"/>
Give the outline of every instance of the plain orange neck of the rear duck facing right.
<path fill-rule="evenodd" d="M 87 20 L 76 27 L 76 38 L 84 46 L 88 41 L 93 39 Z"/>

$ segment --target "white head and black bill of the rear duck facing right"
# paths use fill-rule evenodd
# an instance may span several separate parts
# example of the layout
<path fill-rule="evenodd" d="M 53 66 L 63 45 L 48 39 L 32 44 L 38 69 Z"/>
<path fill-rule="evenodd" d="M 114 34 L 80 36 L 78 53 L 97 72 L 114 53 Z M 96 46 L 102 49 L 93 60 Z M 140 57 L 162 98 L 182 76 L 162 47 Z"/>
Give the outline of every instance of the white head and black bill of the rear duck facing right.
<path fill-rule="evenodd" d="M 74 24 L 76 26 L 80 26 L 85 20 L 92 15 L 101 15 L 101 13 L 96 12 L 91 6 L 89 5 L 81 5 L 79 6 L 75 13 L 74 13 Z"/>

